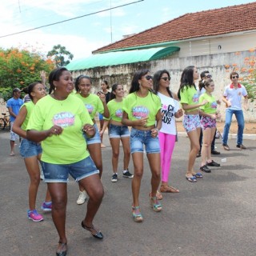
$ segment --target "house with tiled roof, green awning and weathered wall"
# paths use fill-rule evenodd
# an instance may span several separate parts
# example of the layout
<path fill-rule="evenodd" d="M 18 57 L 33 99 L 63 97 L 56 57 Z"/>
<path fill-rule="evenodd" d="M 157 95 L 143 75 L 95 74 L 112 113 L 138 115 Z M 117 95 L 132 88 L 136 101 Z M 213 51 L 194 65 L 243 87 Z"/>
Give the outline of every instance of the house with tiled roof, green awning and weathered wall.
<path fill-rule="evenodd" d="M 128 90 L 134 71 L 148 68 L 154 74 L 166 69 L 171 75 L 171 90 L 177 92 L 182 70 L 194 65 L 199 73 L 210 71 L 215 83 L 214 96 L 222 98 L 232 70 L 246 77 L 250 69 L 255 69 L 255 62 L 248 61 L 256 58 L 255 17 L 256 2 L 184 14 L 94 50 L 90 62 L 74 61 L 67 68 L 74 78 L 79 74 L 89 75 L 95 90 L 99 89 L 102 79 L 110 85 L 123 84 Z M 223 117 L 224 111 L 222 104 Z M 255 111 L 255 103 L 250 102 L 245 113 L 247 122 L 255 122 Z"/>

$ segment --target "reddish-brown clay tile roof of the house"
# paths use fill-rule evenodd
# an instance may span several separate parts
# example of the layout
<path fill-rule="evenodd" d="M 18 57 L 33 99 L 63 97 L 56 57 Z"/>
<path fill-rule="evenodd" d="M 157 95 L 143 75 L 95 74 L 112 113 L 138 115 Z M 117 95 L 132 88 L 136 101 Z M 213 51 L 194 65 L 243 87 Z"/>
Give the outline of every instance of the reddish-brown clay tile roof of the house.
<path fill-rule="evenodd" d="M 256 2 L 184 14 L 93 53 L 256 29 Z"/>

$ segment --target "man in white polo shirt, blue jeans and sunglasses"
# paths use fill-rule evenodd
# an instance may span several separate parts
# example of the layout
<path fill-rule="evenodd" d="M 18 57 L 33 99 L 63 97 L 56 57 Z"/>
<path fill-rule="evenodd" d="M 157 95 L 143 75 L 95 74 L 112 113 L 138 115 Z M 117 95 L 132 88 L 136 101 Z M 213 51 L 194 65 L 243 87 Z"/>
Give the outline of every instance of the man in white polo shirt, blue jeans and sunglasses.
<path fill-rule="evenodd" d="M 246 146 L 242 144 L 242 135 L 243 129 L 245 127 L 245 120 L 243 117 L 241 101 L 243 96 L 245 98 L 244 109 L 247 110 L 248 94 L 246 91 L 246 87 L 242 86 L 242 84 L 239 83 L 239 75 L 237 72 L 230 73 L 230 80 L 231 84 L 230 86 L 226 86 L 222 98 L 222 101 L 226 103 L 226 118 L 222 136 L 222 146 L 224 150 L 230 150 L 230 147 L 227 145 L 227 140 L 229 137 L 232 116 L 234 114 L 238 122 L 238 136 L 236 147 L 240 150 L 246 150 Z"/>

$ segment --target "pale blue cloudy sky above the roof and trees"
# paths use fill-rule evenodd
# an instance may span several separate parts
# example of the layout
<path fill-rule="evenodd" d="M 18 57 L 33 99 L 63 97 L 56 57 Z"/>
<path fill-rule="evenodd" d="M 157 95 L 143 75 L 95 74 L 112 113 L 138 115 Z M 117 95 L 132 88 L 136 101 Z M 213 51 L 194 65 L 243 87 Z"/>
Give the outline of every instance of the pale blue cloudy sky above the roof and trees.
<path fill-rule="evenodd" d="M 2 0 L 0 47 L 29 47 L 46 54 L 61 44 L 74 54 L 74 59 L 86 58 L 93 50 L 121 40 L 124 35 L 137 34 L 183 14 L 248 2 L 255 1 Z M 122 7 L 93 14 L 110 6 Z M 87 16 L 62 22 L 82 15 Z M 46 26 L 54 22 L 62 23 Z M 41 26 L 46 27 L 33 30 Z M 24 30 L 31 31 L 15 34 Z"/>

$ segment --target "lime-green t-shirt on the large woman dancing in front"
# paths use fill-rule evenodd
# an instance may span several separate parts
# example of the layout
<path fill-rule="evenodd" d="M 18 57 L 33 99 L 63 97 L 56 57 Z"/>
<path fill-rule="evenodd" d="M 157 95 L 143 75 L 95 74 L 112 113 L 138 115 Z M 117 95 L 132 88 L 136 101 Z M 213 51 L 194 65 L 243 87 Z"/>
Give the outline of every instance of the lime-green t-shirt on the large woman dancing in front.
<path fill-rule="evenodd" d="M 54 164 L 69 164 L 89 156 L 86 140 L 82 136 L 82 126 L 93 122 L 82 101 L 69 95 L 58 101 L 50 95 L 40 99 L 34 106 L 26 130 L 49 130 L 61 126 L 60 135 L 52 135 L 42 141 L 42 161 Z"/>

